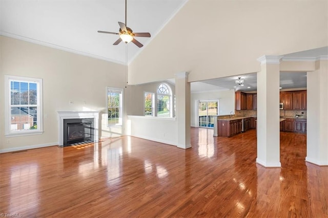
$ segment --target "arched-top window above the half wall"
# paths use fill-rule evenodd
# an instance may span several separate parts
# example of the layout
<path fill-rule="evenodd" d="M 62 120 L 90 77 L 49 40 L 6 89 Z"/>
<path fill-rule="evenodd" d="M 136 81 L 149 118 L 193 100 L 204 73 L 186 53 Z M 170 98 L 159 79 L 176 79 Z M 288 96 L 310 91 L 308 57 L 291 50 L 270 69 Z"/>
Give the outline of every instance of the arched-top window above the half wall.
<path fill-rule="evenodd" d="M 172 91 L 164 83 L 157 88 L 157 117 L 172 117 Z"/>

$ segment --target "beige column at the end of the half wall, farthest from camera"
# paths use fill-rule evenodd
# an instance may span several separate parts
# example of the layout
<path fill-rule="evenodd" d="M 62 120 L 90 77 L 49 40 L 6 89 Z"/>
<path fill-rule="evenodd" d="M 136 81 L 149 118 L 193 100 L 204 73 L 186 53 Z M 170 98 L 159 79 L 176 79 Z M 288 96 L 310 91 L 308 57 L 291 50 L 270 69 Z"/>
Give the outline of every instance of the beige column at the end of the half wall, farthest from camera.
<path fill-rule="evenodd" d="M 190 143 L 190 83 L 188 73 L 175 74 L 175 98 L 177 120 L 178 147 L 187 149 Z"/>

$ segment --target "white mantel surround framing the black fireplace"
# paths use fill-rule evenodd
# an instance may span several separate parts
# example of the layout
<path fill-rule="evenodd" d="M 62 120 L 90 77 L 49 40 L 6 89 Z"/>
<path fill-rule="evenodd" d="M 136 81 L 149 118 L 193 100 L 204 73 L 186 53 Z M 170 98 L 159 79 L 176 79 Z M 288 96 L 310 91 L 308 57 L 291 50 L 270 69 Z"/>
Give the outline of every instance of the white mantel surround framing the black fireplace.
<path fill-rule="evenodd" d="M 58 113 L 58 143 L 59 146 L 64 144 L 64 120 L 94 118 L 94 141 L 98 141 L 98 111 L 57 111 Z"/>

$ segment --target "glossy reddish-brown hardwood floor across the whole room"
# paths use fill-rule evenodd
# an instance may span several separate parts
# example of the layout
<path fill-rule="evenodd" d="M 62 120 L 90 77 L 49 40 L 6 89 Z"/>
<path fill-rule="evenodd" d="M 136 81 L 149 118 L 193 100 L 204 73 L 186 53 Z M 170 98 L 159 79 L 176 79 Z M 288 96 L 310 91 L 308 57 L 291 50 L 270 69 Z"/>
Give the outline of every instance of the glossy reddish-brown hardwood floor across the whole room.
<path fill-rule="evenodd" d="M 134 137 L 0 155 L 0 213 L 22 217 L 327 217 L 328 167 L 281 133 L 281 168 L 255 163 L 255 130 L 192 128 L 183 150 Z M 3 215 L 5 216 L 5 215 Z M 7 216 L 8 217 L 8 216 Z"/>

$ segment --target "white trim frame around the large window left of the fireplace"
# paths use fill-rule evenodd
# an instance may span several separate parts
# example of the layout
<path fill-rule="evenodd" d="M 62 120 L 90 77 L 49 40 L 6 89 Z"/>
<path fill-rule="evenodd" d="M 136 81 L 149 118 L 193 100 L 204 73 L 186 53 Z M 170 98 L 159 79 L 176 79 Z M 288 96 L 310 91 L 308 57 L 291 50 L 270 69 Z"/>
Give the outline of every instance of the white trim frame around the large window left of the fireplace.
<path fill-rule="evenodd" d="M 22 132 L 11 132 L 11 116 L 10 116 L 10 80 L 20 80 L 37 82 L 37 129 L 24 130 Z M 16 137 L 16 136 L 30 136 L 43 134 L 43 80 L 39 78 L 22 77 L 22 76 L 12 76 L 5 75 L 5 136 L 6 137 Z"/>

